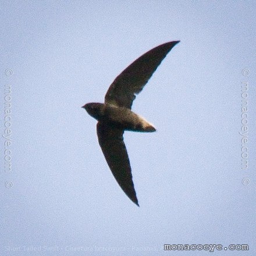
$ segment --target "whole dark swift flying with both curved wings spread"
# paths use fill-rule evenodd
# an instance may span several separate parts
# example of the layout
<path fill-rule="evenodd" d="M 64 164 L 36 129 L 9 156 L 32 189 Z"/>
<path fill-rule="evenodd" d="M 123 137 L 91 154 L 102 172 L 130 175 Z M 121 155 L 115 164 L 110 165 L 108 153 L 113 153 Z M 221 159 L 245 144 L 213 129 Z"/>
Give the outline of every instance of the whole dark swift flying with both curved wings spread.
<path fill-rule="evenodd" d="M 131 105 L 168 52 L 179 41 L 166 42 L 136 59 L 113 81 L 105 95 L 105 103 L 87 103 L 83 106 L 89 115 L 98 120 L 99 145 L 113 176 L 126 195 L 138 205 L 131 166 L 123 133 L 155 131 L 151 123 L 131 111 Z M 138 205 L 139 206 L 139 205 Z"/>

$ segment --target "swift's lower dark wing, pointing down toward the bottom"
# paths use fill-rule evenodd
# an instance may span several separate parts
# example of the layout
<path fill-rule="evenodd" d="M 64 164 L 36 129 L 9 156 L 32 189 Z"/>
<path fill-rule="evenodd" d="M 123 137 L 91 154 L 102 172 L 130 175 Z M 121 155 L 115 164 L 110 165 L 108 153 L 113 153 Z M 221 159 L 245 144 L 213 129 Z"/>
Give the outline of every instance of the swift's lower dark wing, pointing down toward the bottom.
<path fill-rule="evenodd" d="M 130 161 L 123 142 L 123 130 L 98 122 L 97 134 L 99 145 L 113 176 L 130 200 L 138 205 Z"/>

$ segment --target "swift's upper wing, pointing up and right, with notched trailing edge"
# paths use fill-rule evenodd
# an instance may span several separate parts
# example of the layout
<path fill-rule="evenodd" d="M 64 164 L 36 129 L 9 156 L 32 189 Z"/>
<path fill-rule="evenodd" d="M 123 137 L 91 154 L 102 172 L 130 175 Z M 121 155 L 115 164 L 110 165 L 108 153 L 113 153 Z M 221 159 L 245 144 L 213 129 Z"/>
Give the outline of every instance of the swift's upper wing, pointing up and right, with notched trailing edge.
<path fill-rule="evenodd" d="M 178 42 L 166 42 L 158 45 L 126 67 L 106 92 L 105 103 L 131 109 L 136 98 L 134 94 L 143 90 L 162 60 Z"/>

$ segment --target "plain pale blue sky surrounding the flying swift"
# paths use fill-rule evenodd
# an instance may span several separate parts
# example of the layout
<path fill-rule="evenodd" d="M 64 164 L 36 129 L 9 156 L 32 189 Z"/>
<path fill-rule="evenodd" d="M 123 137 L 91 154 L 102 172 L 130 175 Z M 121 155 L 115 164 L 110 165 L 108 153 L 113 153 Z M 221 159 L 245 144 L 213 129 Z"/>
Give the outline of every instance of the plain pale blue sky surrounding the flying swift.
<path fill-rule="evenodd" d="M 255 255 L 254 1 L 1 1 L 0 8 L 2 134 L 4 89 L 12 86 L 11 172 L 2 136 L 0 145 L 1 255 L 208 253 L 166 252 L 163 244 L 248 244 L 250 251 L 214 255 Z M 181 42 L 133 104 L 157 132 L 125 133 L 138 208 L 113 178 L 96 121 L 81 106 L 103 102 L 134 59 L 174 40 Z"/>

